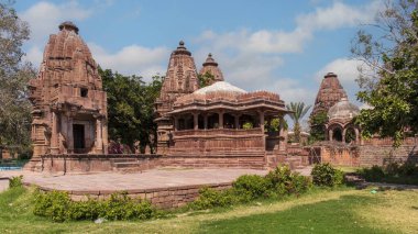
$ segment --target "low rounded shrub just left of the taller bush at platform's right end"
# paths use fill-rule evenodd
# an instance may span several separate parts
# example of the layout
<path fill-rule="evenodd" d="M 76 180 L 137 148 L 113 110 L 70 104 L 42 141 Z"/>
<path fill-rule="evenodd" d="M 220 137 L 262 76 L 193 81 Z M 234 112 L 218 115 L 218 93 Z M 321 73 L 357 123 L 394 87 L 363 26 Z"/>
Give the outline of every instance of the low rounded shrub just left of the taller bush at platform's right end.
<path fill-rule="evenodd" d="M 249 196 L 252 199 L 266 196 L 268 189 L 268 181 L 258 175 L 244 175 L 240 176 L 233 183 L 232 187 L 238 193 L 243 196 Z"/>

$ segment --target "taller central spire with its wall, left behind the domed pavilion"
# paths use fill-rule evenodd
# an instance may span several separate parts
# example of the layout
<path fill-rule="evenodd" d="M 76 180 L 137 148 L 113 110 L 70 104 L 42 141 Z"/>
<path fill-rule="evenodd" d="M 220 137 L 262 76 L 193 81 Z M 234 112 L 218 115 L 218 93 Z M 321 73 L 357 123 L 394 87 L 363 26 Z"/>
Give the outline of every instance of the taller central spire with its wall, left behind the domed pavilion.
<path fill-rule="evenodd" d="M 191 53 L 179 42 L 170 57 L 167 74 L 163 82 L 160 98 L 155 102 L 157 129 L 157 152 L 165 154 L 174 130 L 173 121 L 166 115 L 173 110 L 174 101 L 184 94 L 194 92 L 199 88 L 197 69 Z"/>

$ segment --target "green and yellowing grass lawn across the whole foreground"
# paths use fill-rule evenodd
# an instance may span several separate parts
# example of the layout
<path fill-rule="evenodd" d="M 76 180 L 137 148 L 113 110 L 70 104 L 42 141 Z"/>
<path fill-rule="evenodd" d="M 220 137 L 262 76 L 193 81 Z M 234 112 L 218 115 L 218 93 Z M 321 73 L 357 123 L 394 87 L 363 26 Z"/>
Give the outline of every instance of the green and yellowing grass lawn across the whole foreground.
<path fill-rule="evenodd" d="M 32 192 L 0 193 L 0 233 L 417 233 L 418 191 L 316 190 L 285 201 L 175 213 L 145 222 L 53 223 L 32 214 Z"/>

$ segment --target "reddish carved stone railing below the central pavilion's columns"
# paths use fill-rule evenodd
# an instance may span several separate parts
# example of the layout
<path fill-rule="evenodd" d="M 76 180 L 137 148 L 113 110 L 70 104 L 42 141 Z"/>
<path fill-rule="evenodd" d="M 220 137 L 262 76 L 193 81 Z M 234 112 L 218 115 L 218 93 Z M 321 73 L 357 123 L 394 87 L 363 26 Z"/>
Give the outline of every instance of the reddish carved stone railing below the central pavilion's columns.
<path fill-rule="evenodd" d="M 182 130 L 174 132 L 174 136 L 213 136 L 213 135 L 231 135 L 244 136 L 253 134 L 263 134 L 260 127 L 251 130 L 234 130 L 234 129 L 212 129 L 212 130 Z"/>

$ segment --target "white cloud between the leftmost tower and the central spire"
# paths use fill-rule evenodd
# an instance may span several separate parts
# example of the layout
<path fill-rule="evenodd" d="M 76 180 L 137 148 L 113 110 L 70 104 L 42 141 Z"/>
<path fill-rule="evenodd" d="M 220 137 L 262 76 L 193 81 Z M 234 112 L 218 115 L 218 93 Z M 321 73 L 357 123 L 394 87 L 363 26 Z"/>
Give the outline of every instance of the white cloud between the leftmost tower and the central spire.
<path fill-rule="evenodd" d="M 166 67 L 162 64 L 167 62 L 170 53 L 166 47 L 147 48 L 129 45 L 112 54 L 94 43 L 89 43 L 88 46 L 94 58 L 102 68 L 144 78 L 151 78 L 156 74 L 165 75 Z"/>

